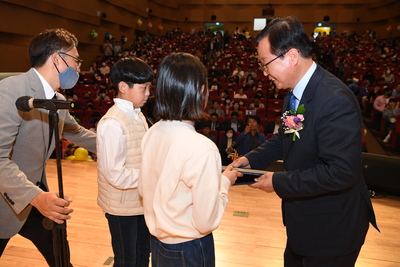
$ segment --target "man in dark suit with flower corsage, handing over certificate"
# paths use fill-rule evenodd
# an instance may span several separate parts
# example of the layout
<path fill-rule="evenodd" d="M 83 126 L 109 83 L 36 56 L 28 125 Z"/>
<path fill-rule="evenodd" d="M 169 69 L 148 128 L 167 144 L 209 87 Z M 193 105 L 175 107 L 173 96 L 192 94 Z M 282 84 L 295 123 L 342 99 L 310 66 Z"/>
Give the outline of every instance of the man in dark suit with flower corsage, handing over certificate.
<path fill-rule="evenodd" d="M 290 88 L 295 97 L 292 108 L 286 97 L 283 111 L 304 107 L 304 128 L 284 129 L 284 120 L 278 134 L 232 165 L 265 169 L 283 159 L 285 171 L 267 172 L 250 186 L 282 198 L 285 266 L 354 266 L 369 222 L 377 228 L 362 175 L 357 100 L 313 62 L 298 19 L 271 21 L 257 42 L 264 75 L 278 88 Z"/>

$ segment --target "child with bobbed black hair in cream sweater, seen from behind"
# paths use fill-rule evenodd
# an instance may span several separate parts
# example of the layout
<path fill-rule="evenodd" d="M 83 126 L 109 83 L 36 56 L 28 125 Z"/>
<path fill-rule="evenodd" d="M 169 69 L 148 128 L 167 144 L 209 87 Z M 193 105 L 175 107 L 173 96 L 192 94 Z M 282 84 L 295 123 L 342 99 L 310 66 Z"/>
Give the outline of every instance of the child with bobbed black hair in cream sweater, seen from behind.
<path fill-rule="evenodd" d="M 216 145 L 195 131 L 207 115 L 207 71 L 187 53 L 159 68 L 154 124 L 142 141 L 139 193 L 151 237 L 152 266 L 215 266 L 212 231 L 239 174 L 221 171 Z M 221 174 L 222 173 L 222 174 Z"/>

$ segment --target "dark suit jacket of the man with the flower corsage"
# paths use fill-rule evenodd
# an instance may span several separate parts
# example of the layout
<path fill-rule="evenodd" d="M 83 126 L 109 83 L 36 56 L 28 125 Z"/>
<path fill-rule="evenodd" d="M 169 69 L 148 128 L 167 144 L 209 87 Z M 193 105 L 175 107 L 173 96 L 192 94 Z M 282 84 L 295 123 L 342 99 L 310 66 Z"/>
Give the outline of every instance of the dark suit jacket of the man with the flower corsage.
<path fill-rule="evenodd" d="M 254 169 L 284 160 L 285 171 L 273 175 L 273 186 L 296 253 L 346 255 L 362 246 L 369 222 L 377 228 L 362 174 L 360 108 L 349 88 L 319 66 L 301 104 L 306 112 L 300 139 L 293 141 L 281 127 L 245 156 Z M 286 97 L 284 109 L 288 106 Z"/>

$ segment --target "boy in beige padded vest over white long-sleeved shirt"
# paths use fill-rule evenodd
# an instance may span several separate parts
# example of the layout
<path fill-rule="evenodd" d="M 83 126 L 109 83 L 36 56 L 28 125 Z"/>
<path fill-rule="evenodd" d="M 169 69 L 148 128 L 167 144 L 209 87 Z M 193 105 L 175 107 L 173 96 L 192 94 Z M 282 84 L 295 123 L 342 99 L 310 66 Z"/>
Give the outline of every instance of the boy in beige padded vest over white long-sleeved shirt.
<path fill-rule="evenodd" d="M 150 233 L 138 194 L 140 143 L 148 129 L 140 107 L 150 94 L 153 71 L 138 58 L 114 64 L 115 104 L 97 126 L 97 203 L 108 220 L 114 266 L 149 265 Z"/>

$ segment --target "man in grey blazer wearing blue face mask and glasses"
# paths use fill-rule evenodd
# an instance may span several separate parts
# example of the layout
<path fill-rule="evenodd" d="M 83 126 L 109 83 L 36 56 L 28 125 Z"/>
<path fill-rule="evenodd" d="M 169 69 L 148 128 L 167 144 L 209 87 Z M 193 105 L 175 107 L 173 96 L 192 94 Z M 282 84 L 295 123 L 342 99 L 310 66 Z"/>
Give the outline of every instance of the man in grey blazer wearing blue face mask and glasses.
<path fill-rule="evenodd" d="M 18 111 L 21 96 L 65 100 L 58 89 L 72 88 L 82 63 L 78 40 L 64 29 L 45 30 L 29 44 L 32 68 L 0 82 L 0 256 L 16 234 L 31 240 L 55 266 L 52 232 L 42 226 L 44 217 L 56 223 L 71 218 L 71 199 L 49 192 L 46 161 L 55 148 L 48 111 Z M 96 152 L 96 135 L 79 126 L 68 110 L 58 110 L 60 137 Z"/>

